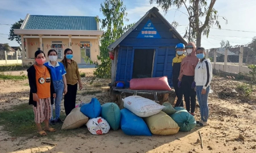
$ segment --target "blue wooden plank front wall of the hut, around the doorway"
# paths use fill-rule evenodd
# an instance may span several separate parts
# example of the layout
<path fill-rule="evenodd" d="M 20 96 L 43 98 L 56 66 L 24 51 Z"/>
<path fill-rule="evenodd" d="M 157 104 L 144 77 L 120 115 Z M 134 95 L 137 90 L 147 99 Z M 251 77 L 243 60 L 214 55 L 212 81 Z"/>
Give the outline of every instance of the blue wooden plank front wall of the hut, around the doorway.
<path fill-rule="evenodd" d="M 161 39 L 136 38 L 148 19 L 151 20 Z M 159 18 L 145 18 L 129 35 L 121 41 L 118 51 L 117 70 L 115 81 L 124 81 L 129 87 L 129 80 L 133 68 L 133 47 L 155 49 L 153 77 L 167 76 L 169 85 L 172 86 L 172 59 L 175 57 L 175 46 L 181 40 L 174 38 L 172 31 Z"/>

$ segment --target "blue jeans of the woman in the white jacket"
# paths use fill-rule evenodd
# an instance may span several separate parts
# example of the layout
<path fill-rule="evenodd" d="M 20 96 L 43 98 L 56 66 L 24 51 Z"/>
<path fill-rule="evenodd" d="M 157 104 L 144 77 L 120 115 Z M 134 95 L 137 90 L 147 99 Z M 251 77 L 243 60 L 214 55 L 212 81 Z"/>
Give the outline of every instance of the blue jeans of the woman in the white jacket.
<path fill-rule="evenodd" d="M 209 117 L 209 107 L 208 107 L 208 94 L 210 91 L 210 86 L 206 88 L 206 93 L 201 94 L 203 86 L 196 86 L 197 100 L 200 106 L 201 120 L 207 122 Z"/>

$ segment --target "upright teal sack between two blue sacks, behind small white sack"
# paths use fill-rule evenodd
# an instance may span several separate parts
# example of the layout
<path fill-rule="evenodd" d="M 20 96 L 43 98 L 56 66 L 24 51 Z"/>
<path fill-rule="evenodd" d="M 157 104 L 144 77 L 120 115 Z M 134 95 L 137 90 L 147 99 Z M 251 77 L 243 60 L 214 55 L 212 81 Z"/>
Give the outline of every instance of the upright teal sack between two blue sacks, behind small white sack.
<path fill-rule="evenodd" d="M 101 116 L 108 122 L 113 130 L 120 127 L 121 112 L 117 104 L 108 102 L 101 106 Z"/>

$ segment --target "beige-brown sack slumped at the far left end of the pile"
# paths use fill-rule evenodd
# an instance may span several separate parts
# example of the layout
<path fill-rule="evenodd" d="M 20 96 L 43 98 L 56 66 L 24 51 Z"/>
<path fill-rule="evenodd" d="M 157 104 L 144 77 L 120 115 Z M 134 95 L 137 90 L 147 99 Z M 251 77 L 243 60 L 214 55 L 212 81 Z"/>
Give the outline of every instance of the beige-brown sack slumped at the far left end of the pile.
<path fill-rule="evenodd" d="M 74 108 L 64 120 L 61 129 L 76 129 L 83 126 L 88 120 L 88 117 L 80 112 L 80 107 Z"/>

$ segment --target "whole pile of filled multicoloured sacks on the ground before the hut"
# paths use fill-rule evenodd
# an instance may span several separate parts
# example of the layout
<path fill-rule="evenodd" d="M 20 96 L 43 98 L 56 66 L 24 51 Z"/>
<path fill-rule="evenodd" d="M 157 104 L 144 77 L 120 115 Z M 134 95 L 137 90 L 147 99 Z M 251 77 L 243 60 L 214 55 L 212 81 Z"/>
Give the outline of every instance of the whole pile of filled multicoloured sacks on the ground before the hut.
<path fill-rule="evenodd" d="M 90 133 L 102 135 L 121 127 L 127 135 L 172 135 L 190 131 L 196 125 L 194 116 L 183 107 L 173 108 L 169 102 L 160 105 L 141 96 L 124 99 L 124 109 L 109 102 L 100 105 L 96 98 L 88 104 L 74 108 L 61 129 L 79 128 L 86 124 Z"/>

